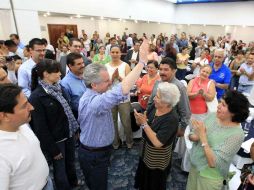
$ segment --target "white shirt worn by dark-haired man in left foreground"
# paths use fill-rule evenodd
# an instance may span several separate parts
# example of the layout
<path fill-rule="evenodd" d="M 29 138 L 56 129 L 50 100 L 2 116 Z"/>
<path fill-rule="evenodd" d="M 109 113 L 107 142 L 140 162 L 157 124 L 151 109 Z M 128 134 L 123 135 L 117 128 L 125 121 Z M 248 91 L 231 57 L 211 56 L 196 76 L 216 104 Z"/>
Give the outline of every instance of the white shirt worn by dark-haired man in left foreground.
<path fill-rule="evenodd" d="M 0 130 L 0 189 L 41 190 L 49 168 L 28 124 L 16 132 Z"/>

